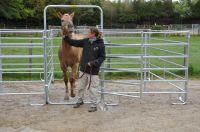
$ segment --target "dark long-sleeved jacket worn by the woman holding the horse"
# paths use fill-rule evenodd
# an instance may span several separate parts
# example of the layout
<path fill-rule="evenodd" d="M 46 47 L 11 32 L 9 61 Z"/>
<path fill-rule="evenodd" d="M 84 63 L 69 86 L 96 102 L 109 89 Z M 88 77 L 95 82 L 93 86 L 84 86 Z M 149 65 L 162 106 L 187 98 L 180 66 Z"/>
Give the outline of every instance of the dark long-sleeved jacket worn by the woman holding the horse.
<path fill-rule="evenodd" d="M 97 39 L 92 43 L 90 43 L 89 38 L 74 40 L 66 36 L 63 39 L 71 46 L 83 48 L 82 58 L 79 65 L 80 70 L 88 74 L 98 75 L 100 66 L 105 60 L 105 46 L 103 39 Z M 87 65 L 88 62 L 90 62 L 91 67 Z"/>

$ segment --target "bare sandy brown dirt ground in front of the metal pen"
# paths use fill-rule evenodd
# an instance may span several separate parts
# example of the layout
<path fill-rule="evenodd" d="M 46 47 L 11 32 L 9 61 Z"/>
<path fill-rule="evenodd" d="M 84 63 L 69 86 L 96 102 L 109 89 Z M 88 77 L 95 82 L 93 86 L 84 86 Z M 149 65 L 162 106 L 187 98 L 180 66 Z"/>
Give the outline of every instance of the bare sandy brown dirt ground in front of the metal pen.
<path fill-rule="evenodd" d="M 39 84 L 7 86 L 41 90 Z M 54 87 L 52 100 L 62 100 L 63 83 Z M 119 106 L 95 113 L 87 112 L 88 104 L 79 109 L 70 105 L 30 106 L 30 102 L 43 103 L 43 96 L 0 96 L 0 132 L 199 132 L 199 95 L 200 81 L 190 81 L 187 105 L 171 105 L 169 95 L 151 94 L 142 101 L 121 98 Z"/>

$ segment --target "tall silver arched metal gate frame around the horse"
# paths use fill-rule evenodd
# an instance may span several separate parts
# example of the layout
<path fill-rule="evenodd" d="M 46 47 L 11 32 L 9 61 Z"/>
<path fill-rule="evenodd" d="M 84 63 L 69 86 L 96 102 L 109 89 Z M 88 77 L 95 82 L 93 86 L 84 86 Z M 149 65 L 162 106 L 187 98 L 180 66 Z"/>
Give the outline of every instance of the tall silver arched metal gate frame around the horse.
<path fill-rule="evenodd" d="M 101 9 L 101 7 L 96 6 L 96 5 L 48 5 L 45 7 L 44 9 L 44 58 L 45 62 L 44 62 L 44 82 L 45 82 L 45 93 L 46 93 L 46 103 L 47 104 L 74 104 L 75 102 L 63 102 L 63 101 L 53 101 L 52 99 L 50 99 L 49 96 L 49 89 L 51 87 L 51 82 L 53 80 L 53 71 L 50 70 L 50 67 L 53 67 L 53 63 L 50 60 L 49 56 L 53 57 L 53 50 L 52 50 L 52 42 L 47 42 L 47 40 L 52 40 L 53 39 L 53 30 L 48 30 L 47 29 L 47 10 L 49 8 L 96 8 L 100 11 L 100 22 L 98 25 L 100 25 L 100 31 L 103 32 L 103 11 Z M 47 34 L 50 33 L 51 37 L 48 38 Z M 51 49 L 51 50 L 49 50 Z"/>

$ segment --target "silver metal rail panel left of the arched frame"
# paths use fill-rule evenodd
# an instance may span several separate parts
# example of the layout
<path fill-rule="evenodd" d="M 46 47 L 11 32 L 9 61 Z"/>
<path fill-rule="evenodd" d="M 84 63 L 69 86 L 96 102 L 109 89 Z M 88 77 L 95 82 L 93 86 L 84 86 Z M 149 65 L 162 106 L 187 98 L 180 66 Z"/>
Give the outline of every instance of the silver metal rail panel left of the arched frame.
<path fill-rule="evenodd" d="M 45 104 L 43 33 L 43 30 L 0 30 L 1 96 L 23 96 L 29 104 Z M 26 87 L 29 84 L 35 88 Z"/>

